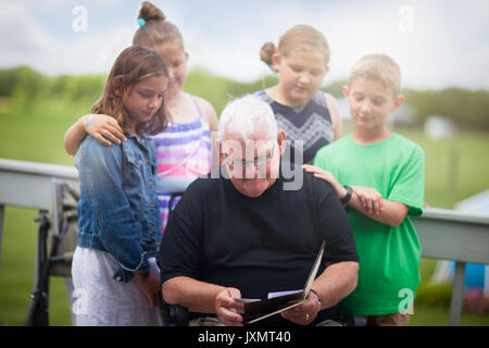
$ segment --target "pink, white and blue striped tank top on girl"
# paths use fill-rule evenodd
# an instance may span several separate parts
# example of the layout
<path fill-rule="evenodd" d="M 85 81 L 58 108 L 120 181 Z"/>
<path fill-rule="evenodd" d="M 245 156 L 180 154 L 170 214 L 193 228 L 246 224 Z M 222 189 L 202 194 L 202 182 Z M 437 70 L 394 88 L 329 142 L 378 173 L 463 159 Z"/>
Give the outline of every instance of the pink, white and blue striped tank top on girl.
<path fill-rule="evenodd" d="M 171 123 L 165 132 L 152 137 L 156 148 L 156 191 L 163 233 L 172 194 L 185 191 L 191 182 L 211 171 L 211 129 L 195 98 L 193 101 L 199 111 L 196 121 Z M 178 200 L 176 198 L 173 206 Z"/>

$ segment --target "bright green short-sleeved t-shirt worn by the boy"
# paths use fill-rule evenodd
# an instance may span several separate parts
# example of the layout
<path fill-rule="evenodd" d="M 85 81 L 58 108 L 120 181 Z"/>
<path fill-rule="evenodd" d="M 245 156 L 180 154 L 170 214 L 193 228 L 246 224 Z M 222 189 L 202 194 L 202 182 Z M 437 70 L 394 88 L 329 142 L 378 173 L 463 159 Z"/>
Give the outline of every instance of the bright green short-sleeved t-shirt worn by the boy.
<path fill-rule="evenodd" d="M 385 199 L 408 206 L 409 215 L 423 213 L 424 151 L 398 134 L 372 145 L 343 137 L 317 151 L 314 165 L 342 185 L 375 188 Z M 421 281 L 421 244 L 411 220 L 390 227 L 352 208 L 348 219 L 360 259 L 359 284 L 340 311 L 383 315 L 406 310 Z"/>

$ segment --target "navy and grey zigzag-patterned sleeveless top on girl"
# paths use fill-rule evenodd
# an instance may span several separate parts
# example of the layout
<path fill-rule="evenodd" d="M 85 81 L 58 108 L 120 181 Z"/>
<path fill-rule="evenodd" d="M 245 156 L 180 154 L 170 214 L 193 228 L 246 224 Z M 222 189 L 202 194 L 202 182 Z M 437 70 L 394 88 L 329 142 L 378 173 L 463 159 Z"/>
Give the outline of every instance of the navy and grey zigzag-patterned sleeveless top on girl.
<path fill-rule="evenodd" d="M 286 133 L 288 141 L 283 156 L 285 159 L 289 158 L 294 162 L 296 148 L 299 151 L 301 141 L 303 163 L 312 164 L 316 151 L 335 139 L 331 116 L 323 91 L 316 91 L 305 104 L 296 108 L 276 102 L 264 89 L 256 91 L 255 95 L 272 107 L 278 128 Z"/>

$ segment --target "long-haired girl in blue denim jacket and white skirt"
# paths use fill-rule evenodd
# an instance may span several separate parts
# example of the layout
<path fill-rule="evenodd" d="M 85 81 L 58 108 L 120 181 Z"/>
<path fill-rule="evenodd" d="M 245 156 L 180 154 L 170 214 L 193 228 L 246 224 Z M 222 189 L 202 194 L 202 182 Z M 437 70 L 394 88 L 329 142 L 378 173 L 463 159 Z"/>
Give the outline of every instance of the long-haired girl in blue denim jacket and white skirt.
<path fill-rule="evenodd" d="M 78 245 L 72 264 L 77 325 L 156 325 L 162 304 L 154 257 L 161 241 L 155 154 L 147 135 L 168 122 L 168 73 L 158 53 L 125 49 L 92 113 L 113 115 L 127 141 L 88 136 L 75 165 L 80 178 Z"/>

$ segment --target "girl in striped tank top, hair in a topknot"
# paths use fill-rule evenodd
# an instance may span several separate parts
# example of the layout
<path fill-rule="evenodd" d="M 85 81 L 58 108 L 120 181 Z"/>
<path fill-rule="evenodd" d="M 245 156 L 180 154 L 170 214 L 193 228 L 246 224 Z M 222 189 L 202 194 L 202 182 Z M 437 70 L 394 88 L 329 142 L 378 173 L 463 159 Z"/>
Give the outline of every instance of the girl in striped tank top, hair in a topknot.
<path fill-rule="evenodd" d="M 178 28 L 148 1 L 141 4 L 137 18 L 139 28 L 133 44 L 160 54 L 170 76 L 165 105 L 173 121 L 165 132 L 152 137 L 156 147 L 156 190 L 164 232 L 172 194 L 185 191 L 193 179 L 211 170 L 211 133 L 217 130 L 217 116 L 209 101 L 181 90 L 189 54 Z M 106 146 L 124 141 L 124 133 L 113 120 L 108 115 L 82 116 L 65 134 L 66 151 L 74 154 L 87 134 Z"/>

